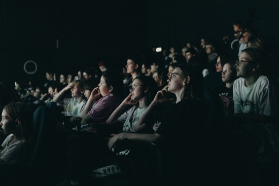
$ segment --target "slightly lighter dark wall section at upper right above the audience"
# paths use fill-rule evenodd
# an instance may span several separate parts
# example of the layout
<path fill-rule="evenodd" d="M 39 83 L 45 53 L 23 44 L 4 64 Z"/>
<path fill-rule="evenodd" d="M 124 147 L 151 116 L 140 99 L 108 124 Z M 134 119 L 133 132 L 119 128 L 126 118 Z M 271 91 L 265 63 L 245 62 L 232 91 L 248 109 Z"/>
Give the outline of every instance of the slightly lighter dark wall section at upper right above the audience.
<path fill-rule="evenodd" d="M 154 0 L 147 7 L 149 46 L 174 46 L 180 50 L 187 42 L 198 45 L 201 37 L 232 38 L 232 24 L 236 20 L 249 22 L 249 9 L 256 11 L 253 23 L 261 34 L 268 38 L 279 36 L 277 0 Z"/>

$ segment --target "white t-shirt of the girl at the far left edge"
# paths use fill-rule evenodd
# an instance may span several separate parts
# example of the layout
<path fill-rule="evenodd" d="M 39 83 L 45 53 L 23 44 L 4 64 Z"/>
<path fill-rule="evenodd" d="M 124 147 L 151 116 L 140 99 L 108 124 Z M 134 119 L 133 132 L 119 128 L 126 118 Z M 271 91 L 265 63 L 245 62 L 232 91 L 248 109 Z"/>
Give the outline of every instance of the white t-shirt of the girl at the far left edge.
<path fill-rule="evenodd" d="M 26 152 L 24 149 L 24 140 L 14 141 L 13 144 L 10 142 L 14 139 L 14 134 L 10 134 L 6 137 L 2 143 L 3 150 L 0 153 L 0 158 L 5 163 L 24 163 L 26 160 Z"/>

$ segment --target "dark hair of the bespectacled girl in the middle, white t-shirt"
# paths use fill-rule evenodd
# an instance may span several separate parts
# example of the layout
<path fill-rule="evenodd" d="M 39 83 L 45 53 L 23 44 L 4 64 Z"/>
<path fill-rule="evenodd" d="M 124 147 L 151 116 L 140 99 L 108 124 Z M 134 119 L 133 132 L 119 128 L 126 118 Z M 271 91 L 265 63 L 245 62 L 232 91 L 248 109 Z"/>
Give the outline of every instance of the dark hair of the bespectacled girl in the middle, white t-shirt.
<path fill-rule="evenodd" d="M 147 104 L 149 105 L 153 101 L 153 99 L 158 91 L 157 83 L 150 76 L 139 76 L 139 77 L 135 78 L 134 80 L 138 80 L 138 81 L 142 82 L 144 87 L 148 90 L 147 95 L 146 95 L 146 100 L 147 100 Z"/>

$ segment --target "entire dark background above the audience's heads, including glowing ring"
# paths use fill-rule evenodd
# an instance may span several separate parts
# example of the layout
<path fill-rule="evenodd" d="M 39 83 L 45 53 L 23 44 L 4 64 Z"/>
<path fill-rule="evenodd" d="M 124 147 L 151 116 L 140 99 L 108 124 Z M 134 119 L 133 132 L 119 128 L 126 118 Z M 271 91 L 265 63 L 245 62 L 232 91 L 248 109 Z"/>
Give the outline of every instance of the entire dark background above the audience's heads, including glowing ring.
<path fill-rule="evenodd" d="M 279 36 L 277 0 L 0 2 L 0 81 L 38 84 L 48 68 L 76 74 L 101 59 L 120 69 L 131 52 L 153 46 L 180 52 L 202 36 L 232 37 L 233 22 L 247 22 L 248 10 L 256 11 L 254 23 L 268 40 Z M 38 64 L 34 75 L 23 70 L 27 60 Z"/>

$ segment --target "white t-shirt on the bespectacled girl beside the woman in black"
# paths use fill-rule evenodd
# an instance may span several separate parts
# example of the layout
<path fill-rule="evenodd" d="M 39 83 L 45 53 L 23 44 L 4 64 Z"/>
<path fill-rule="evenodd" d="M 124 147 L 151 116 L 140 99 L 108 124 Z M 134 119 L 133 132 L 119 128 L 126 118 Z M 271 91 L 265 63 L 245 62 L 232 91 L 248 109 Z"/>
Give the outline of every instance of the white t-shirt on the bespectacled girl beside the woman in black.
<path fill-rule="evenodd" d="M 134 126 L 137 123 L 138 119 L 140 119 L 141 116 L 144 114 L 146 109 L 147 106 L 140 108 L 137 104 L 125 111 L 125 113 L 118 118 L 121 123 L 124 123 L 122 130 L 126 132 L 135 132 Z"/>

